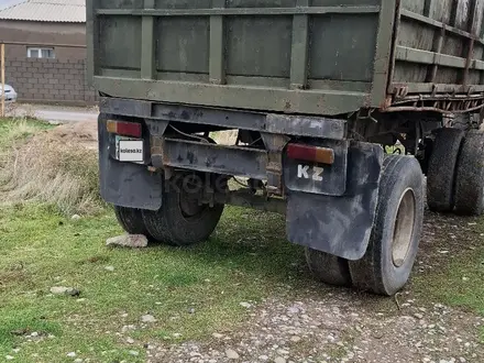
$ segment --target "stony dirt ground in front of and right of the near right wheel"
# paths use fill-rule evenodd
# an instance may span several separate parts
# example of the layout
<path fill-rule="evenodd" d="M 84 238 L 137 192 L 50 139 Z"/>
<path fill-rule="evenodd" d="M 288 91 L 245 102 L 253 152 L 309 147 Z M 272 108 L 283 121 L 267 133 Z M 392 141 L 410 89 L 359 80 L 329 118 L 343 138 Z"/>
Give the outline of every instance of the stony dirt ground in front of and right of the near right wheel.
<path fill-rule="evenodd" d="M 417 278 L 453 252 L 482 243 L 466 219 L 428 212 L 425 226 Z M 322 293 L 315 294 L 318 289 Z M 288 288 L 286 297 L 242 304 L 251 319 L 235 331 L 215 332 L 205 342 L 148 345 L 148 362 L 484 361 L 484 319 L 414 294 L 413 284 L 387 299 L 315 284 L 298 296 Z"/>

